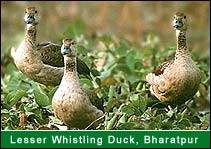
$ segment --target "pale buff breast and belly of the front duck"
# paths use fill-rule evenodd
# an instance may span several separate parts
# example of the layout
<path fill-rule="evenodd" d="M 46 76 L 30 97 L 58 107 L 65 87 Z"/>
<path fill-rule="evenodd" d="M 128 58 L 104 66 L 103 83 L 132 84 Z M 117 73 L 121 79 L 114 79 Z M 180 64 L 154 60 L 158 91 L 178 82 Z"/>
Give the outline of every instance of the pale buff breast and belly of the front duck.
<path fill-rule="evenodd" d="M 74 80 L 63 79 L 52 100 L 55 116 L 69 127 L 84 129 L 103 115 L 90 100 Z"/>

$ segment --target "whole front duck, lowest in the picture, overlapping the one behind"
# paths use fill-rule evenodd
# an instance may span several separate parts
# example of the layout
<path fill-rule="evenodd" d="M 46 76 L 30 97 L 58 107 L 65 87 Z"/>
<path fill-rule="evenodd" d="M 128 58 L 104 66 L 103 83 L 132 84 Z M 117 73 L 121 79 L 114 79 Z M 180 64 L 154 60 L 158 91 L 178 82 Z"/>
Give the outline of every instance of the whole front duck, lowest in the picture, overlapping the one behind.
<path fill-rule="evenodd" d="M 64 75 L 53 95 L 54 115 L 68 128 L 85 129 L 104 115 L 103 100 L 95 92 L 81 87 L 77 73 L 77 48 L 70 38 L 63 40 Z M 91 128 L 96 128 L 96 123 Z"/>

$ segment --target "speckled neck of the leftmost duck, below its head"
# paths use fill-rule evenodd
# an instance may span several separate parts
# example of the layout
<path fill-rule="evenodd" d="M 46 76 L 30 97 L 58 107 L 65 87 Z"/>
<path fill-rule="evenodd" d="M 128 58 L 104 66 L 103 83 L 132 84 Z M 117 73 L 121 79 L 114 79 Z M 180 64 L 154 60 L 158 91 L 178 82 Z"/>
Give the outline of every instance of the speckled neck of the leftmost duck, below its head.
<path fill-rule="evenodd" d="M 34 47 L 36 41 L 36 25 L 27 24 L 27 30 L 25 34 L 25 45 L 27 47 Z"/>

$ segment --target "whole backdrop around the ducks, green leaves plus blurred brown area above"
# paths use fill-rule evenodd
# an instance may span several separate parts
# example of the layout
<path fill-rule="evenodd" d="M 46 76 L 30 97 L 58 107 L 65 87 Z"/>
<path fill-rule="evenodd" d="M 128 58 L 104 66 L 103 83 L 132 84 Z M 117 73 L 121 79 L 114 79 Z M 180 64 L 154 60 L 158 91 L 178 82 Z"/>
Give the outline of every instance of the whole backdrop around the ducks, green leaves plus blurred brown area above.
<path fill-rule="evenodd" d="M 10 56 L 24 37 L 24 9 L 41 16 L 38 42 L 77 41 L 92 79 L 83 87 L 104 99 L 105 121 L 97 129 L 210 129 L 210 2 L 1 2 L 1 129 L 64 130 L 53 115 L 57 87 L 44 86 L 17 70 Z M 193 8 L 195 11 L 193 11 Z M 200 10 L 200 11 L 196 11 Z M 201 70 L 199 91 L 181 106 L 160 103 L 145 76 L 174 56 L 176 11 L 188 18 L 187 43 Z M 9 18 L 9 19 L 8 19 Z"/>

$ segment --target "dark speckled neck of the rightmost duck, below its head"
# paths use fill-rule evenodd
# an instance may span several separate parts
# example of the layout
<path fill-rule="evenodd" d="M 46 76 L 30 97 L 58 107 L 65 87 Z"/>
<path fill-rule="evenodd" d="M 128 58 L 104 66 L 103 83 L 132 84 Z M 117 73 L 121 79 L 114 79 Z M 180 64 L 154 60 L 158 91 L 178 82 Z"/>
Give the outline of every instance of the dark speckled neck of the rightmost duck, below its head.
<path fill-rule="evenodd" d="M 175 58 L 177 59 L 179 56 L 184 56 L 188 53 L 186 45 L 186 31 L 176 30 L 176 38 L 177 38 L 177 49 Z"/>

